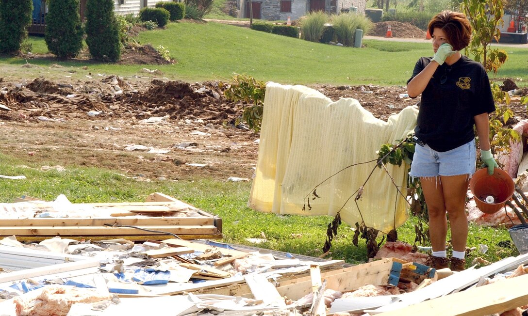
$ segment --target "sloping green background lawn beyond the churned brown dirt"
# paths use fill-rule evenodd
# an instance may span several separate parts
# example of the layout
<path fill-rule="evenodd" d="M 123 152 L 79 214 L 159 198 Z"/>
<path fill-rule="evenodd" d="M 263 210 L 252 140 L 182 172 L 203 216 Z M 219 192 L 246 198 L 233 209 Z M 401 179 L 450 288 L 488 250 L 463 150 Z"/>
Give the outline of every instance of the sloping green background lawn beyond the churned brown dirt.
<path fill-rule="evenodd" d="M 365 40 L 364 49 L 312 43 L 291 37 L 267 34 L 248 28 L 218 23 L 169 23 L 164 30 L 142 32 L 140 43 L 163 45 L 177 60 L 174 65 L 115 65 L 90 61 L 28 60 L 41 68 L 20 69 L 25 60 L 0 58 L 4 73 L 46 78 L 64 75 L 85 79 L 92 74 L 142 75 L 143 68 L 158 69 L 169 79 L 204 81 L 230 78 L 233 72 L 245 73 L 263 81 L 283 84 L 380 84 L 404 85 L 420 56 L 432 54 L 428 43 L 401 43 Z M 42 37 L 31 37 L 35 53 L 46 52 Z M 526 72 L 528 50 L 507 47 L 510 60 L 498 78 L 522 78 Z M 60 63 L 65 69 L 50 68 Z M 88 66 L 88 70 L 83 70 Z M 6 78 L 8 79 L 8 78 Z"/>

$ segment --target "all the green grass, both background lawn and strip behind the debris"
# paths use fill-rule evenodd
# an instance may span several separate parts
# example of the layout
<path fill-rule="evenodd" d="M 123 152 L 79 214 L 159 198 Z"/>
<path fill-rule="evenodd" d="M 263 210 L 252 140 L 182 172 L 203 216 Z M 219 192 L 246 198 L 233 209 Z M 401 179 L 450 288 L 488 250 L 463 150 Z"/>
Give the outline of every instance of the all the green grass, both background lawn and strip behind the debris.
<path fill-rule="evenodd" d="M 414 63 L 420 56 L 431 55 L 430 44 L 365 40 L 364 49 L 311 43 L 290 37 L 266 34 L 247 28 L 217 23 L 171 23 L 165 30 L 140 33 L 141 43 L 163 45 L 178 61 L 174 65 L 115 65 L 91 61 L 11 58 L 3 56 L 0 65 L 4 80 L 36 76 L 46 79 L 86 80 L 86 75 L 118 74 L 134 76 L 145 73 L 145 67 L 158 69 L 168 79 L 202 81 L 229 78 L 233 72 L 246 73 L 264 81 L 284 84 L 380 84 L 404 85 Z M 47 52 L 42 37 L 30 37 L 35 53 Z M 510 60 L 497 78 L 521 78 L 528 81 L 528 50 L 507 47 Z M 36 67 L 22 68 L 25 63 Z M 51 67 L 60 64 L 63 68 Z M 87 70 L 82 68 L 87 66 Z M 21 167 L 22 162 L 0 155 L 0 174 L 27 176 L 26 180 L 0 181 L 0 202 L 10 203 L 20 195 L 54 199 L 65 194 L 72 202 L 142 201 L 154 191 L 161 191 L 223 218 L 225 242 L 249 244 L 291 253 L 312 256 L 322 254 L 326 227 L 331 217 L 301 217 L 262 214 L 246 207 L 250 184 L 220 183 L 208 179 L 194 182 L 153 181 L 139 183 L 111 170 L 68 167 L 64 173 L 39 171 L 40 166 Z M 54 165 L 50 161 L 50 165 Z M 414 242 L 416 218 L 398 229 L 402 241 Z M 246 238 L 261 238 L 266 242 L 251 244 Z M 331 249 L 333 258 L 348 262 L 366 260 L 365 246 L 352 245 L 353 229 L 343 224 Z M 513 246 L 501 247 L 509 241 L 506 229 L 470 227 L 468 246 L 475 248 L 469 260 L 482 256 L 496 261 L 515 255 Z M 361 241 L 360 241 L 361 242 Z M 486 253 L 477 253 L 480 244 Z M 503 244 L 501 244 L 503 245 Z"/>

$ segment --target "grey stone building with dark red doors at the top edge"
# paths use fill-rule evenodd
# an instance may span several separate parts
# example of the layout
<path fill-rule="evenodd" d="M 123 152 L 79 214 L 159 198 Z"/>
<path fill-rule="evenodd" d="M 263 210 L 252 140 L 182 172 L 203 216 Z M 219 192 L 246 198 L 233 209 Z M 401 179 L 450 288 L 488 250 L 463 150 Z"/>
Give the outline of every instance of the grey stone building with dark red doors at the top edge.
<path fill-rule="evenodd" d="M 239 17 L 250 17 L 249 1 L 237 0 L 240 9 Z M 252 0 L 253 18 L 269 21 L 291 21 L 306 15 L 310 11 L 325 11 L 340 13 L 350 11 L 352 7 L 357 13 L 364 14 L 366 0 Z"/>

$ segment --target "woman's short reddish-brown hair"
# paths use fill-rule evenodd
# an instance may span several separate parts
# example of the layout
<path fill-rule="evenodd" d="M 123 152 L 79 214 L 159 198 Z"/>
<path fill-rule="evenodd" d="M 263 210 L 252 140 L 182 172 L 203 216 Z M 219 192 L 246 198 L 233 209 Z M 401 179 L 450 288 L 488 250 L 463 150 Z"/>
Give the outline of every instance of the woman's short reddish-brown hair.
<path fill-rule="evenodd" d="M 449 10 L 438 13 L 429 21 L 427 28 L 432 34 L 437 27 L 446 34 L 453 50 L 459 51 L 469 44 L 471 26 L 464 13 Z"/>

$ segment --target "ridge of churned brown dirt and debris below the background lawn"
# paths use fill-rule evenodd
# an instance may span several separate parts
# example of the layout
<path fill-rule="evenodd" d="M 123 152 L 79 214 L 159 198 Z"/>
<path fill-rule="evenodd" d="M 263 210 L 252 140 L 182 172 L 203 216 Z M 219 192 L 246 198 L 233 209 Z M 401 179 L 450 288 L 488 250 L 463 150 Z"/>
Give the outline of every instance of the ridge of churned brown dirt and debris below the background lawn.
<path fill-rule="evenodd" d="M 0 89 L 0 118 L 26 120 L 44 117 L 132 117 L 168 116 L 201 119 L 221 124 L 241 115 L 241 107 L 225 99 L 218 82 L 186 83 L 152 80 L 139 90 L 124 78 L 106 76 L 73 86 L 42 78 L 8 84 Z"/>

